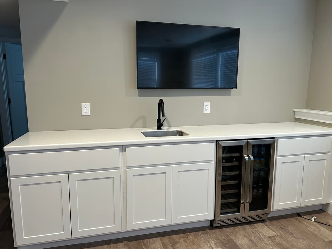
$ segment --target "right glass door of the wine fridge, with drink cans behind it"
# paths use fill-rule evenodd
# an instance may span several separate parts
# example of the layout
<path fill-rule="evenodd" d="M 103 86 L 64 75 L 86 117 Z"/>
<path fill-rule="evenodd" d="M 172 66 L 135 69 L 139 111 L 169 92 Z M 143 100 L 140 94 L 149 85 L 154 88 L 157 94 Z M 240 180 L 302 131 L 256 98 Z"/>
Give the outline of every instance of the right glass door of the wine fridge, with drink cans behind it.
<path fill-rule="evenodd" d="M 250 173 L 246 175 L 245 215 L 271 211 L 275 139 L 249 140 Z"/>

